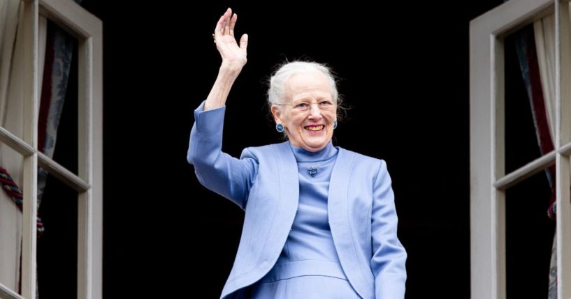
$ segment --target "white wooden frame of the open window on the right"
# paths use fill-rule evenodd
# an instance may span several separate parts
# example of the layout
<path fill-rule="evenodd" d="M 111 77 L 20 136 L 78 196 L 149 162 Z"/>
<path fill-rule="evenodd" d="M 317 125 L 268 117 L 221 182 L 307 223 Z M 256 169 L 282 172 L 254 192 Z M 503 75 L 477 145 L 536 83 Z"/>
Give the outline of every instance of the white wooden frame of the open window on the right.
<path fill-rule="evenodd" d="M 555 150 L 506 174 L 504 38 L 548 13 L 556 15 Z M 557 298 L 571 298 L 570 39 L 568 0 L 510 0 L 470 22 L 472 299 L 506 298 L 505 190 L 553 164 L 557 188 Z"/>

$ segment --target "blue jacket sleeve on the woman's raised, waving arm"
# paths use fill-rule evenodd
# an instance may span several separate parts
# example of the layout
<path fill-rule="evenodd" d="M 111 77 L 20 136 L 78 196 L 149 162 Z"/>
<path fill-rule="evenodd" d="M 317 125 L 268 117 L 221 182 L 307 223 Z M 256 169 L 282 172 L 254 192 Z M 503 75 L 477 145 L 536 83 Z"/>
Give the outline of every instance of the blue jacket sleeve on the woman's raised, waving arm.
<path fill-rule="evenodd" d="M 245 209 L 258 162 L 245 148 L 240 159 L 222 152 L 222 128 L 226 107 L 203 111 L 204 102 L 194 110 L 187 160 L 194 165 L 198 181 L 208 189 Z"/>

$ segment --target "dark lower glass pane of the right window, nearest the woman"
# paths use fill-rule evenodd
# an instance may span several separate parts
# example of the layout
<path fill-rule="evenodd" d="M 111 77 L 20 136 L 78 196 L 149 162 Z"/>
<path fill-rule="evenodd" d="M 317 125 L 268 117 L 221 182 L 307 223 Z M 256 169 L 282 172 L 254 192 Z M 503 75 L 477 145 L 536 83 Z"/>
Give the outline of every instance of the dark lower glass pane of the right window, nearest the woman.
<path fill-rule="evenodd" d="M 555 229 L 550 201 L 545 171 L 506 191 L 507 298 L 547 298 Z"/>

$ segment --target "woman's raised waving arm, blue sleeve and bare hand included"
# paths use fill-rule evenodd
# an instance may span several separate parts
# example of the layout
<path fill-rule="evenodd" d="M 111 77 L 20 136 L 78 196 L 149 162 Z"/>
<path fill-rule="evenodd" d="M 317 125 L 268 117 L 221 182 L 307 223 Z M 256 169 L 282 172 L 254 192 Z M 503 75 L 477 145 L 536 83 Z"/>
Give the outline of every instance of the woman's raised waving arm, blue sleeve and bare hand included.
<path fill-rule="evenodd" d="M 257 173 L 256 158 L 247 149 L 239 160 L 222 152 L 226 98 L 246 63 L 247 35 L 240 38 L 240 46 L 234 38 L 237 17 L 229 8 L 216 25 L 215 43 L 222 65 L 208 98 L 194 111 L 187 160 L 202 185 L 245 208 Z"/>

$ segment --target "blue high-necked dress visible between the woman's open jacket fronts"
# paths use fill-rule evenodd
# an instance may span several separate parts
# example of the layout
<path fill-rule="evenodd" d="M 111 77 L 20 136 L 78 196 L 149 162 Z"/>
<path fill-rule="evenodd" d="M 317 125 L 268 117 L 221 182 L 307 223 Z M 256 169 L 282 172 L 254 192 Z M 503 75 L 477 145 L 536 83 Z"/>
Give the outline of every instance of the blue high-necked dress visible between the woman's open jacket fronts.
<path fill-rule="evenodd" d="M 252 286 L 252 298 L 360 298 L 343 273 L 328 223 L 329 181 L 338 149 L 331 141 L 315 153 L 290 146 L 298 166 L 298 210 L 280 258 Z"/>

